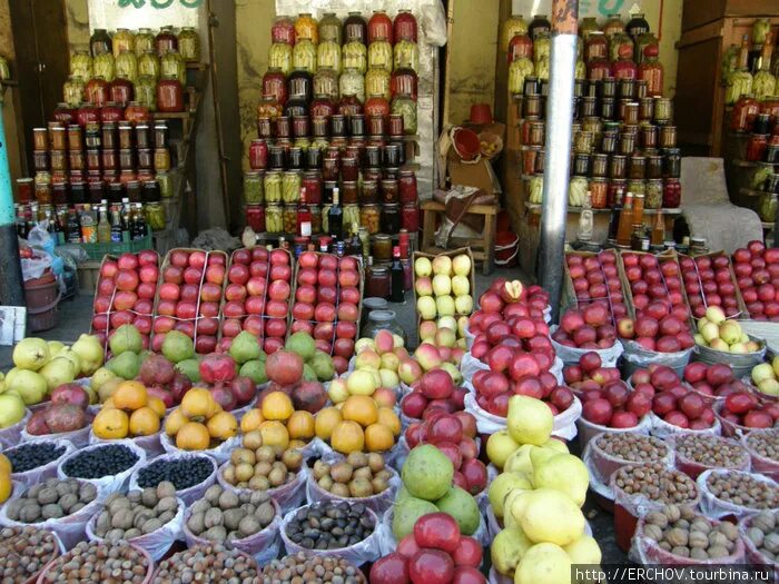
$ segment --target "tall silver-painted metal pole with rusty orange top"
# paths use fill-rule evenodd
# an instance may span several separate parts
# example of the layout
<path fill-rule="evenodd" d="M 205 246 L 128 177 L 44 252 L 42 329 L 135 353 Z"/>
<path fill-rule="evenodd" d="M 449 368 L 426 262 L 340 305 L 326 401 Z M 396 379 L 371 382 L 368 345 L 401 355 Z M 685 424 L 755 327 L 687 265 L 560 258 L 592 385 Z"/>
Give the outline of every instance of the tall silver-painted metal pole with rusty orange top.
<path fill-rule="evenodd" d="M 549 291 L 554 321 L 560 313 L 563 283 L 578 19 L 579 0 L 553 1 L 539 280 Z"/>

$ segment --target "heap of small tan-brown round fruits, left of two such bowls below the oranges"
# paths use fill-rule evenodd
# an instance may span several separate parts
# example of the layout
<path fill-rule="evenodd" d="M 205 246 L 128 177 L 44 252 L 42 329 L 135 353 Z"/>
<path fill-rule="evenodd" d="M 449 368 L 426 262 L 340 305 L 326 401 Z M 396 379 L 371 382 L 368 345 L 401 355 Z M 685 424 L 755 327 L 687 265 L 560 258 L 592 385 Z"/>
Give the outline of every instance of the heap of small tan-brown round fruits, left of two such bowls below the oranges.
<path fill-rule="evenodd" d="M 298 451 L 264 446 L 262 434 L 254 430 L 244 435 L 241 447 L 219 468 L 219 482 L 238 489 L 270 491 L 295 482 L 303 464 Z"/>

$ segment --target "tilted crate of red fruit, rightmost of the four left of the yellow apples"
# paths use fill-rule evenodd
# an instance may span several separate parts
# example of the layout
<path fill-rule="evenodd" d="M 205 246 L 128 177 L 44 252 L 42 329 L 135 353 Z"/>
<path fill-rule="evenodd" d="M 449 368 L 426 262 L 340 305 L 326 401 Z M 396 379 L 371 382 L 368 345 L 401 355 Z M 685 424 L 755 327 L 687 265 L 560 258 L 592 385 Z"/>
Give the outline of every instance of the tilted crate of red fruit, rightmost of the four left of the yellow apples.
<path fill-rule="evenodd" d="M 295 301 L 289 333 L 313 336 L 316 348 L 346 370 L 359 328 L 364 276 L 354 257 L 304 251 L 295 268 Z"/>

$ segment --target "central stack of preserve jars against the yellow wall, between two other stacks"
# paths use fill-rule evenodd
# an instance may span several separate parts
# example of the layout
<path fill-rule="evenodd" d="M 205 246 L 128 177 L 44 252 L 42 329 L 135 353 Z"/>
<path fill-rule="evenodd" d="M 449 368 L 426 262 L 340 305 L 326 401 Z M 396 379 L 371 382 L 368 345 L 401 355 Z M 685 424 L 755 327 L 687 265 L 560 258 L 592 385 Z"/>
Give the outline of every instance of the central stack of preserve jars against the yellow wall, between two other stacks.
<path fill-rule="evenodd" d="M 312 235 L 326 234 L 338 187 L 344 231 L 365 228 L 374 254 L 402 230 L 415 237 L 414 16 L 401 11 L 393 22 L 377 11 L 366 22 L 351 12 L 343 23 L 333 13 L 318 22 L 310 14 L 278 17 L 272 38 L 245 176 L 247 225 L 294 238 L 305 187 Z"/>

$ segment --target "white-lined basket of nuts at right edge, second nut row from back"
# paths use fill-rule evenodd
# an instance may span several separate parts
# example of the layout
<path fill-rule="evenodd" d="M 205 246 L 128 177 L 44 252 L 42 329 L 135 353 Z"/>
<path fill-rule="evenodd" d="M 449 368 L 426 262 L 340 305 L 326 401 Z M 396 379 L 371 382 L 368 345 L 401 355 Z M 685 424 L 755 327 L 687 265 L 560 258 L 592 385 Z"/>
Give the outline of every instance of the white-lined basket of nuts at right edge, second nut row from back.
<path fill-rule="evenodd" d="M 706 471 L 696 481 L 701 492 L 701 511 L 719 519 L 755 514 L 779 507 L 779 485 L 756 473 Z"/>

